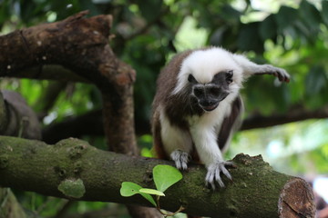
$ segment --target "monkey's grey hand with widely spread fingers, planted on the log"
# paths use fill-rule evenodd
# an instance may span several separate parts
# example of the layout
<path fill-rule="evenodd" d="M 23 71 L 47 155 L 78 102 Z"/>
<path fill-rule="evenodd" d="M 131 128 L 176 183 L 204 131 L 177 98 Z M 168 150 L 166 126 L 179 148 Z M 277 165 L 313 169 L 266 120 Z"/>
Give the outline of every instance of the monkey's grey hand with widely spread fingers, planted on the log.
<path fill-rule="evenodd" d="M 220 173 L 225 174 L 228 179 L 232 180 L 231 173 L 226 169 L 226 166 L 233 166 L 232 162 L 217 162 L 211 163 L 208 167 L 208 173 L 206 174 L 205 181 L 207 186 L 211 186 L 215 190 L 215 182 L 219 183 L 220 187 L 224 187 L 224 183 L 220 178 Z"/>

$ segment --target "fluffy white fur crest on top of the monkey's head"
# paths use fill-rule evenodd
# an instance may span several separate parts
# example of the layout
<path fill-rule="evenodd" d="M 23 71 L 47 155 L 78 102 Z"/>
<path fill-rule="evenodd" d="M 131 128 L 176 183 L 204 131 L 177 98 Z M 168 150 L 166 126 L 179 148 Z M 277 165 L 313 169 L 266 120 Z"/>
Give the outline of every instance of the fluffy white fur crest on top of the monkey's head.
<path fill-rule="evenodd" d="M 188 76 L 192 74 L 200 84 L 210 83 L 213 76 L 219 72 L 233 71 L 233 81 L 241 86 L 242 65 L 237 63 L 241 55 L 231 54 L 220 47 L 212 47 L 207 50 L 196 50 L 187 56 L 181 64 L 178 74 L 178 84 L 172 94 L 179 94 L 188 84 Z M 249 61 L 250 62 L 250 61 Z M 250 62 L 251 63 L 251 62 Z M 252 63 L 253 64 L 253 63 Z"/>

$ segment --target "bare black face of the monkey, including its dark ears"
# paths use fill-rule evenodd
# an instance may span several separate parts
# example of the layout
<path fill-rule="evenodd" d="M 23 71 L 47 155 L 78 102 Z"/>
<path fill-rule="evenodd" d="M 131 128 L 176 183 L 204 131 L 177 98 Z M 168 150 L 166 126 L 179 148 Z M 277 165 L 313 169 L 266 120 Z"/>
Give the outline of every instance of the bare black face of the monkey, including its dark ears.
<path fill-rule="evenodd" d="M 229 85 L 232 83 L 232 75 L 232 71 L 220 72 L 214 75 L 210 83 L 200 84 L 190 74 L 188 81 L 191 84 L 191 96 L 197 99 L 204 111 L 213 111 L 230 94 Z"/>

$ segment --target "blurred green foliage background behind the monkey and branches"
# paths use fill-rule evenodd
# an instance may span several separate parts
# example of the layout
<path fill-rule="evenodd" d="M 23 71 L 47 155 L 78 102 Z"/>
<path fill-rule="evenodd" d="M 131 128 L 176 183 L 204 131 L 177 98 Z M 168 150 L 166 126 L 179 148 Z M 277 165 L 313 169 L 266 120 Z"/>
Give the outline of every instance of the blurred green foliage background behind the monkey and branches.
<path fill-rule="evenodd" d="M 111 33 L 115 37 L 110 45 L 137 71 L 135 118 L 142 154 L 151 155 L 149 114 L 160 69 L 177 52 L 218 45 L 258 64 L 285 68 L 292 75 L 290 84 L 280 84 L 272 76 L 253 77 L 245 83 L 245 119 L 299 114 L 290 124 L 268 123 L 265 128 L 240 131 L 226 157 L 262 154 L 282 173 L 310 180 L 327 175 L 328 1 L 0 0 L 0 34 L 56 22 L 82 10 L 89 10 L 89 16 L 114 16 Z M 0 88 L 26 98 L 43 122 L 48 143 L 62 137 L 49 132 L 54 126 L 90 112 L 97 115 L 101 109 L 101 96 L 91 84 L 2 78 Z M 69 128 L 67 133 L 74 127 Z M 98 128 L 72 136 L 106 149 L 101 123 Z M 318 190 L 323 193 L 326 188 Z M 82 217 L 77 215 L 90 211 L 97 211 L 97 217 L 128 217 L 124 207 L 113 203 L 67 203 L 36 193 L 15 193 L 27 209 L 44 217 Z M 58 216 L 64 210 L 67 216 Z M 114 213 L 101 216 L 104 211 Z"/>

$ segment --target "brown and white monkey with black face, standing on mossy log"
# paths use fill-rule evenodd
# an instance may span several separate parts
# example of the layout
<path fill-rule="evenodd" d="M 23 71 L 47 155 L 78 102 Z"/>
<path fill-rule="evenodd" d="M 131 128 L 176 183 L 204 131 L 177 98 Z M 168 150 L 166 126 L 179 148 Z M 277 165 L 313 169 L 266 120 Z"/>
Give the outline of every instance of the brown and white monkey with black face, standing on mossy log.
<path fill-rule="evenodd" d="M 255 64 L 242 54 L 207 47 L 176 54 L 162 69 L 152 104 L 153 144 L 160 159 L 187 170 L 190 159 L 204 163 L 205 183 L 224 187 L 231 161 L 222 156 L 241 125 L 242 83 L 251 75 L 272 74 L 281 82 L 290 75 L 271 64 Z"/>

